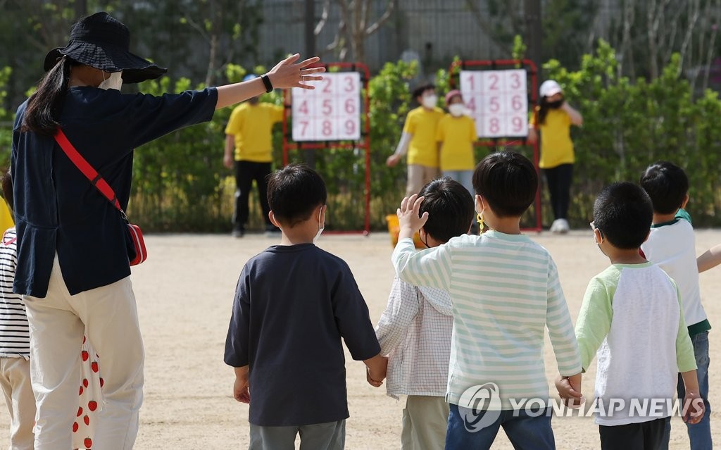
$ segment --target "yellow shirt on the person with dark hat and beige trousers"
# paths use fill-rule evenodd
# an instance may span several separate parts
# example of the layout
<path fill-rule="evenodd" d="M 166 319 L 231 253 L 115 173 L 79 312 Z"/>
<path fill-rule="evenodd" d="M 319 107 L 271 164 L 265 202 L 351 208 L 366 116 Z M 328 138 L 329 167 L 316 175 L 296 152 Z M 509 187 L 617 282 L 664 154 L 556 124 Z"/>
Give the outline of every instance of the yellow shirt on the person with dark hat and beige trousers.
<path fill-rule="evenodd" d="M 435 131 L 443 118 L 443 110 L 435 107 L 426 110 L 419 106 L 410 110 L 403 127 L 404 133 L 413 137 L 408 144 L 408 164 L 425 167 L 438 167 L 438 146 L 435 144 Z"/>

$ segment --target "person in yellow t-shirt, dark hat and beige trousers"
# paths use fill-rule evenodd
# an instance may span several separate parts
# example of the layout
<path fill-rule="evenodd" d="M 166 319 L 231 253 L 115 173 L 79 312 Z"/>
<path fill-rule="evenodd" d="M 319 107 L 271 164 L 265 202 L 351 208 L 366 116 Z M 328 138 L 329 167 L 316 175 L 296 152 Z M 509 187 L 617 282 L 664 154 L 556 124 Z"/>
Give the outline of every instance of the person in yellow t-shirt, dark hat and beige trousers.
<path fill-rule="evenodd" d="M 443 110 L 435 106 L 438 97 L 433 84 L 417 87 L 413 97 L 420 106 L 408 112 L 396 151 L 386 159 L 386 165 L 394 167 L 404 154 L 408 154 L 406 196 L 418 193 L 427 182 L 438 177 L 435 133 L 443 118 Z"/>

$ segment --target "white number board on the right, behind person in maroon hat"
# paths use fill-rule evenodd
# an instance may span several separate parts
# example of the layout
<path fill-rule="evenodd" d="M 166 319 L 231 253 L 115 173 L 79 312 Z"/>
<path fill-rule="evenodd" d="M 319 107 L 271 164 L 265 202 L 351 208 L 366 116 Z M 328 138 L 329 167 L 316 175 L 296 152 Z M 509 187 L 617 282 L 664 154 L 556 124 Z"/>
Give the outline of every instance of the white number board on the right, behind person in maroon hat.
<path fill-rule="evenodd" d="M 528 135 L 526 71 L 461 71 L 461 94 L 479 138 Z"/>

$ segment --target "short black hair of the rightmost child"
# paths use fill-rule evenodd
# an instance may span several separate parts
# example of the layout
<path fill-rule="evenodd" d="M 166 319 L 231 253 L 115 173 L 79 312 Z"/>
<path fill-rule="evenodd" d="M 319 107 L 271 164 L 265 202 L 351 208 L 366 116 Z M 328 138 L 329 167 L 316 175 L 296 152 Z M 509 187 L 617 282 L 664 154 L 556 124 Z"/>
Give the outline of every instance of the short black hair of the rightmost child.
<path fill-rule="evenodd" d="M 673 214 L 681 208 L 689 193 L 689 177 L 673 162 L 658 161 L 643 172 L 641 186 L 651 198 L 653 211 Z"/>

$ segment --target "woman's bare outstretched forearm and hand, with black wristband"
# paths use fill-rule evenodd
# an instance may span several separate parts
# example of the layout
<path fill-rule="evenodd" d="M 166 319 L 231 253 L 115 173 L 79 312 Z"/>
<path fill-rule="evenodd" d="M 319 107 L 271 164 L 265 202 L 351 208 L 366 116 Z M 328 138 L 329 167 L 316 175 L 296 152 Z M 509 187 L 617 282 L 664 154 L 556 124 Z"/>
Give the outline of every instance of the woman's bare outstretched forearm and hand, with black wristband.
<path fill-rule="evenodd" d="M 275 89 L 288 89 L 291 87 L 301 87 L 303 89 L 315 89 L 311 84 L 305 84 L 305 81 L 319 81 L 322 80 L 320 74 L 325 71 L 324 67 L 314 67 L 308 69 L 313 63 L 320 61 L 317 56 L 314 58 L 306 59 L 300 63 L 296 63 L 300 58 L 300 54 L 288 56 L 288 58 L 280 61 L 276 64 L 273 69 L 266 74 L 270 79 L 270 84 L 273 84 Z M 236 103 L 248 100 L 251 97 L 257 97 L 258 95 L 265 92 L 265 84 L 263 84 L 260 76 L 258 78 L 242 81 L 241 83 L 226 84 L 225 86 L 219 86 L 218 88 L 218 102 L 216 103 L 216 110 L 221 107 L 235 105 Z"/>

